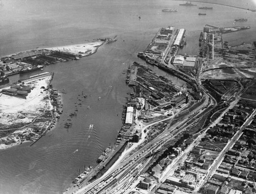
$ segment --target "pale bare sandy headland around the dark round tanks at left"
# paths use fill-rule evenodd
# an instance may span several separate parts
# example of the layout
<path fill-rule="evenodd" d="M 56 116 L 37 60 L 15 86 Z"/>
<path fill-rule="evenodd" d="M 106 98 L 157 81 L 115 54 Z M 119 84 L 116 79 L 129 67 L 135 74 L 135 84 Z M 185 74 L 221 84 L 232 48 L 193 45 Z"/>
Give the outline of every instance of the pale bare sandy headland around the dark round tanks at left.
<path fill-rule="evenodd" d="M 54 106 L 49 98 L 52 74 L 24 80 L 22 84 L 31 88 L 25 98 L 18 98 L 4 93 L 0 94 L 0 130 L 6 135 L 0 138 L 0 149 L 26 142 L 35 141 L 52 122 Z M 3 88 L 8 90 L 10 87 Z M 1 91 L 2 91 L 1 90 Z M 3 137 L 4 136 L 4 137 Z"/>

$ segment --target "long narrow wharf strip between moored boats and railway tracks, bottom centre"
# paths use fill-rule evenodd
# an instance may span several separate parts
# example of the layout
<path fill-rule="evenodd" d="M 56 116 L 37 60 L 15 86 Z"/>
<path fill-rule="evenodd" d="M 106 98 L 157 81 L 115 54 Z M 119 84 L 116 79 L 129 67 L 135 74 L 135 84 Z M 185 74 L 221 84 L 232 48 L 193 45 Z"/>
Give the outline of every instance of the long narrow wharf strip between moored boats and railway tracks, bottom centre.
<path fill-rule="evenodd" d="M 119 150 L 125 145 L 127 142 L 126 139 L 123 139 L 123 141 L 119 145 L 114 145 L 111 152 L 108 154 L 108 157 L 105 159 L 105 161 L 100 162 L 83 180 L 80 181 L 80 183 L 74 184 L 72 187 L 69 187 L 67 191 L 64 193 L 71 194 L 78 188 L 84 187 L 88 184 L 90 184 L 90 180 L 97 178 L 98 173 L 102 168 L 104 168 L 111 159 L 119 152 Z"/>

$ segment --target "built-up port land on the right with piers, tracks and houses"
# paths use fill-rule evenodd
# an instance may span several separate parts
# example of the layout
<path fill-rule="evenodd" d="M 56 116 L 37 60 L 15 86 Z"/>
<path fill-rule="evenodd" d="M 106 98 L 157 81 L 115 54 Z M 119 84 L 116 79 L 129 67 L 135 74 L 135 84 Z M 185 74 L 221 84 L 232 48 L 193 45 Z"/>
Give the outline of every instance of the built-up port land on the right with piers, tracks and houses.
<path fill-rule="evenodd" d="M 228 47 L 223 40 L 223 34 L 246 29 L 206 25 L 199 55 L 192 56 L 177 55 L 189 44 L 185 29 L 161 28 L 138 54 L 146 64 L 134 62 L 127 71 L 134 93 L 124 106 L 118 136 L 126 148 L 103 175 L 90 176 L 67 193 L 254 192 L 255 141 L 248 134 L 255 136 L 256 110 L 249 105 L 255 44 Z M 186 87 L 150 66 L 183 79 Z M 236 71 L 232 78 L 226 76 L 231 70 Z M 95 169 L 100 165 L 105 163 Z"/>

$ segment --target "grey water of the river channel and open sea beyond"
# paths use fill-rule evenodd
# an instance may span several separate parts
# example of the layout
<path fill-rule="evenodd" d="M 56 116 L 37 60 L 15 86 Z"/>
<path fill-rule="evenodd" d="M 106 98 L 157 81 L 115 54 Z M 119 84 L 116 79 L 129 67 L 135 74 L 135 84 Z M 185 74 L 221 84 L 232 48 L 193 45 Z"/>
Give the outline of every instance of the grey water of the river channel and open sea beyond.
<path fill-rule="evenodd" d="M 2 0 L 0 56 L 37 47 L 81 44 L 115 35 L 118 40 L 80 60 L 56 63 L 42 71 L 10 77 L 11 81 L 16 81 L 42 72 L 54 72 L 53 87 L 66 94 L 63 94 L 63 114 L 54 130 L 33 146 L 24 143 L 0 150 L 0 193 L 62 193 L 71 186 L 79 168 L 97 165 L 96 160 L 105 147 L 115 143 L 122 126 L 121 117 L 117 115 L 121 115 L 125 97 L 132 91 L 125 84 L 126 74 L 122 73 L 126 73 L 134 61 L 144 64 L 137 53 L 151 43 L 159 28 L 185 28 L 187 45 L 180 53 L 188 54 L 198 54 L 199 34 L 206 24 L 232 26 L 235 18 L 248 18 L 241 25 L 249 25 L 251 29 L 225 35 L 224 41 L 236 45 L 256 40 L 256 12 L 198 2 L 195 3 L 198 6 L 185 7 L 179 6 L 180 3 L 184 2 Z M 214 9 L 199 10 L 199 6 Z M 178 12 L 162 12 L 164 8 L 178 9 Z M 207 15 L 199 16 L 199 12 Z M 150 68 L 178 85 L 184 84 L 156 67 Z M 77 105 L 77 117 L 69 121 L 73 125 L 67 130 L 64 123 L 75 111 L 75 102 L 82 92 L 88 97 Z M 94 124 L 93 130 L 89 129 L 90 124 Z"/>

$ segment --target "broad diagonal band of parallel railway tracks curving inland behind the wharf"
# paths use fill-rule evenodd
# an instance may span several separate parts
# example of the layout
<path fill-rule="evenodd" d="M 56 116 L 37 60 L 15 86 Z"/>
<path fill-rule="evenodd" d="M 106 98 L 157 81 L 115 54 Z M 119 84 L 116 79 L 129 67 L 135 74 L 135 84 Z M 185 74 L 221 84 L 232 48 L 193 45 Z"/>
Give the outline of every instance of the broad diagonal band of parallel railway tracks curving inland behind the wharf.
<path fill-rule="evenodd" d="M 98 190 L 98 192 L 95 192 L 95 193 L 100 193 L 103 190 L 106 190 L 108 187 L 113 191 L 113 193 L 121 193 L 120 190 L 122 186 L 120 186 L 120 184 L 123 182 L 127 182 L 131 178 L 127 176 L 128 175 L 127 172 L 129 172 L 131 176 L 136 176 L 135 174 L 138 172 L 137 170 L 133 170 L 133 169 L 136 169 L 136 167 L 139 166 L 139 164 L 141 164 L 142 161 L 144 161 L 145 157 L 150 157 L 151 155 L 154 155 L 154 153 L 158 152 L 158 150 L 162 146 L 164 146 L 170 140 L 173 140 L 175 136 L 183 132 L 186 127 L 182 128 L 182 126 L 186 125 L 186 122 L 193 119 L 195 116 L 195 113 L 200 111 L 208 103 L 208 100 L 209 100 L 208 97 L 206 97 L 206 100 L 204 101 L 204 103 L 202 103 L 199 107 L 197 107 L 197 109 L 191 111 L 190 114 L 187 115 L 186 117 L 187 119 L 177 122 L 172 126 L 168 124 L 166 126 L 165 131 L 162 132 L 158 137 L 148 142 L 146 145 L 144 145 L 143 147 L 135 151 L 132 155 L 127 156 L 126 154 L 126 157 L 124 157 L 121 161 L 118 161 L 118 164 L 114 164 L 115 167 L 111 171 L 108 171 L 107 173 L 105 173 L 105 175 L 102 178 L 99 178 L 93 183 L 80 189 L 77 193 L 90 193 L 90 191 L 93 190 L 92 188 L 95 188 L 97 185 L 101 185 L 105 183 L 104 178 L 111 175 L 112 177 L 118 178 L 119 181 L 116 181 L 117 179 L 112 179 L 111 181 L 108 181 L 108 183 L 105 184 L 104 187 L 101 188 L 101 190 Z M 160 120 L 158 122 L 163 122 L 164 120 L 167 120 L 167 119 L 168 118 Z M 153 124 L 154 123 L 152 123 L 151 125 Z M 148 126 L 150 125 L 147 125 L 146 127 Z M 124 178 L 125 181 L 122 181 L 122 178 Z M 112 189 L 113 186 L 111 186 L 111 182 L 115 185 L 114 187 L 117 189 L 114 189 L 114 190 Z"/>

